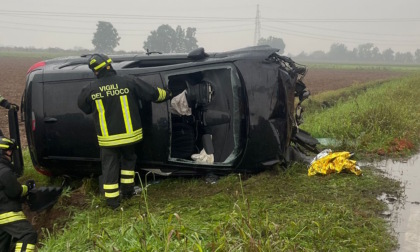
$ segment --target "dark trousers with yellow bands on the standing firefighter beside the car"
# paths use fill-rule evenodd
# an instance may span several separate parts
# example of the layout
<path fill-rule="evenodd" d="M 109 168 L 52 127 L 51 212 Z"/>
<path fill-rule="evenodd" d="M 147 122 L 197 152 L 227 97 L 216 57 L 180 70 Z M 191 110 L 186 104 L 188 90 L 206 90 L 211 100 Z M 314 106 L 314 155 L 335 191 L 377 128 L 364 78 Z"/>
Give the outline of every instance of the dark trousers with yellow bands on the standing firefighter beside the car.
<path fill-rule="evenodd" d="M 103 189 L 110 207 L 119 206 L 120 190 L 123 196 L 133 195 L 136 160 L 135 145 L 101 148 Z"/>

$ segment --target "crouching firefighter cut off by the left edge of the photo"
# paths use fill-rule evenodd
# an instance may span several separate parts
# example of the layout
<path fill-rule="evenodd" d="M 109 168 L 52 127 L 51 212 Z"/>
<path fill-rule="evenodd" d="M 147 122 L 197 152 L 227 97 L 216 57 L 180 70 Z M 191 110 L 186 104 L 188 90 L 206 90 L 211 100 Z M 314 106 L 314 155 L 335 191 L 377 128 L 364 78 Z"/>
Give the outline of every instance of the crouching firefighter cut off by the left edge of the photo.
<path fill-rule="evenodd" d="M 22 197 L 35 187 L 33 180 L 21 185 L 13 172 L 12 154 L 17 148 L 12 139 L 0 137 L 0 251 L 35 251 L 38 235 L 22 211 Z"/>

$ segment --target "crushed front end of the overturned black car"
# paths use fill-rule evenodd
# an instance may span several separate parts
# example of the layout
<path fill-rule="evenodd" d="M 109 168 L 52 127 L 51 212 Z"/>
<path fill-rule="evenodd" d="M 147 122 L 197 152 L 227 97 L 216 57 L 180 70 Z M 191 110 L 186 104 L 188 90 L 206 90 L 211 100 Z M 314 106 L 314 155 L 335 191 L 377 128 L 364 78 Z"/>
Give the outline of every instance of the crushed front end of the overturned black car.
<path fill-rule="evenodd" d="M 301 102 L 309 97 L 306 67 L 267 51 L 263 61 L 235 62 L 243 75 L 249 109 L 248 143 L 243 161 L 261 170 L 276 163 L 307 161 L 317 140 L 299 129 Z M 297 100 L 297 104 L 296 104 Z"/>

